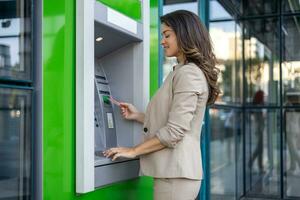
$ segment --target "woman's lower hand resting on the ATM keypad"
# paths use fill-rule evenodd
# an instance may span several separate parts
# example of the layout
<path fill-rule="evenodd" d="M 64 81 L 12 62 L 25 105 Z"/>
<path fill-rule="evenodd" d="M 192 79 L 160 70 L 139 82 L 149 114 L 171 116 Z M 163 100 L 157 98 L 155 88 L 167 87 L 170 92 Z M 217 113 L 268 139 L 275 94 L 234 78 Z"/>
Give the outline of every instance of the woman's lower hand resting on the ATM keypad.
<path fill-rule="evenodd" d="M 117 158 L 135 158 L 136 152 L 135 149 L 132 147 L 115 147 L 110 148 L 106 151 L 103 151 L 103 155 L 106 158 L 112 158 L 112 160 L 116 160 Z"/>

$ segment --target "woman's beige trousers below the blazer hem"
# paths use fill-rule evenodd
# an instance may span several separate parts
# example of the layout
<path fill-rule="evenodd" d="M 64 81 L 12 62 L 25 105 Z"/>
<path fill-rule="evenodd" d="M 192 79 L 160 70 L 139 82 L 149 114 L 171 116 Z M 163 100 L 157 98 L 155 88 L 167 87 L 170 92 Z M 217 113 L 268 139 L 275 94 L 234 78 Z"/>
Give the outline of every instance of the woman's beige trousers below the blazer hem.
<path fill-rule="evenodd" d="M 154 200 L 195 200 L 201 180 L 154 178 Z"/>

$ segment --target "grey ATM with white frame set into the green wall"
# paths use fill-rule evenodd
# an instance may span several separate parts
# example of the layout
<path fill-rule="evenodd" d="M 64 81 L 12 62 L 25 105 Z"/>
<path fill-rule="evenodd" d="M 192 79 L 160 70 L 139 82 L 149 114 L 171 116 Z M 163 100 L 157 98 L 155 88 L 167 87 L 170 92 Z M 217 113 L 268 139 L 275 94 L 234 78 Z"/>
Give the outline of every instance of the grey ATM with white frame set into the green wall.
<path fill-rule="evenodd" d="M 149 2 L 142 19 L 94 0 L 76 2 L 76 192 L 139 176 L 138 159 L 111 161 L 108 148 L 133 146 L 141 125 L 124 120 L 110 97 L 144 110 L 149 99 Z M 148 12 L 144 12 L 148 10 Z"/>

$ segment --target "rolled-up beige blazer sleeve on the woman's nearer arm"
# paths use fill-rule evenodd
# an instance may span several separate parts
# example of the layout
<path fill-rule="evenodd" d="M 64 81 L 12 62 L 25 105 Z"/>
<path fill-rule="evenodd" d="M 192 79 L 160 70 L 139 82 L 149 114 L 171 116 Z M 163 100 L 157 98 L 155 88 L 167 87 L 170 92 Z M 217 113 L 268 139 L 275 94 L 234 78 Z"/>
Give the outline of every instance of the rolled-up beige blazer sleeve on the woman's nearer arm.
<path fill-rule="evenodd" d="M 199 96 L 204 92 L 204 75 L 194 66 L 178 69 L 173 77 L 173 98 L 167 124 L 156 136 L 162 144 L 175 148 L 191 129 L 191 121 L 197 108 Z"/>

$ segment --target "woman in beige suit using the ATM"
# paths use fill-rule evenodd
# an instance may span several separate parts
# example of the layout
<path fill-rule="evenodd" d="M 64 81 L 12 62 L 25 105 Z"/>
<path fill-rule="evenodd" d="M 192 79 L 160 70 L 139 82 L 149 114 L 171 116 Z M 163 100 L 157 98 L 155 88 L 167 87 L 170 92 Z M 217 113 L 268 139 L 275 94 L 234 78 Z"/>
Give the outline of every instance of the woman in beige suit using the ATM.
<path fill-rule="evenodd" d="M 161 17 L 161 45 L 178 65 L 147 106 L 146 113 L 121 103 L 125 119 L 144 125 L 145 140 L 132 147 L 104 152 L 113 160 L 140 157 L 141 172 L 154 177 L 157 200 L 190 200 L 202 179 L 200 131 L 206 104 L 219 94 L 209 34 L 197 15 L 180 10 Z"/>

